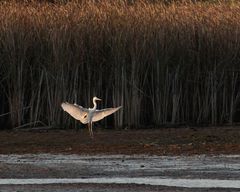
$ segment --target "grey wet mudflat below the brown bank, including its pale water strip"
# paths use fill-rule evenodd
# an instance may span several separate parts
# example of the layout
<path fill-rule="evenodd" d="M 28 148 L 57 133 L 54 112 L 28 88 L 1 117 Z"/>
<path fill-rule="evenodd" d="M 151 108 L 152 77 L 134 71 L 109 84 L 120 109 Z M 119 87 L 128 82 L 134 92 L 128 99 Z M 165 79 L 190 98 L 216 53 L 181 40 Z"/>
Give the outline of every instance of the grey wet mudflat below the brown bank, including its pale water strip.
<path fill-rule="evenodd" d="M 239 191 L 240 155 L 0 155 L 0 191 Z"/>

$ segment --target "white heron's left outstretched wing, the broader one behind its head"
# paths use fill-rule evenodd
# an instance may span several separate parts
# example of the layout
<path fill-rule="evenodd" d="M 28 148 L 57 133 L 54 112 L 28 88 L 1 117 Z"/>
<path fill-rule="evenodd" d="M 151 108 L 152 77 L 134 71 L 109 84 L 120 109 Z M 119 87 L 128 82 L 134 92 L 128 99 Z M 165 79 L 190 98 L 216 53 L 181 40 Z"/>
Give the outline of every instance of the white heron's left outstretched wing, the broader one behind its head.
<path fill-rule="evenodd" d="M 61 104 L 64 111 L 69 113 L 73 118 L 81 121 L 81 123 L 87 123 L 88 109 L 83 108 L 77 104 L 70 104 L 68 102 L 64 102 Z"/>

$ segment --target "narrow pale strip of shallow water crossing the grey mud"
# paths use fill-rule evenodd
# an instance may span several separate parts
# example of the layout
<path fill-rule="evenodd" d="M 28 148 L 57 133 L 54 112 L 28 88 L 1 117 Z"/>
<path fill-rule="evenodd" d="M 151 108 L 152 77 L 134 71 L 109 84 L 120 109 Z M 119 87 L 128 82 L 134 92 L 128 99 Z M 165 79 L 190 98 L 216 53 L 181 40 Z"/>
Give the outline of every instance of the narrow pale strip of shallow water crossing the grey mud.
<path fill-rule="evenodd" d="M 237 188 L 240 180 L 216 179 L 164 179 L 164 178 L 41 178 L 41 179 L 0 179 L 0 185 L 44 185 L 44 184 L 144 184 L 186 188 Z"/>

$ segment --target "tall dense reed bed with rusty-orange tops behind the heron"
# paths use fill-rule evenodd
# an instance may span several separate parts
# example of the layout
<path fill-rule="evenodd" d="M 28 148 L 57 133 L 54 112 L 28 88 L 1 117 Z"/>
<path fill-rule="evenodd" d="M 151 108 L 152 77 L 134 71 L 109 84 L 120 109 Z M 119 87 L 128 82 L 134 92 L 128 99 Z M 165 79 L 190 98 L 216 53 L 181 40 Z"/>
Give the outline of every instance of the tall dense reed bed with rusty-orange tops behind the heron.
<path fill-rule="evenodd" d="M 75 127 L 62 101 L 122 105 L 110 127 L 239 122 L 240 4 L 0 1 L 0 123 Z"/>

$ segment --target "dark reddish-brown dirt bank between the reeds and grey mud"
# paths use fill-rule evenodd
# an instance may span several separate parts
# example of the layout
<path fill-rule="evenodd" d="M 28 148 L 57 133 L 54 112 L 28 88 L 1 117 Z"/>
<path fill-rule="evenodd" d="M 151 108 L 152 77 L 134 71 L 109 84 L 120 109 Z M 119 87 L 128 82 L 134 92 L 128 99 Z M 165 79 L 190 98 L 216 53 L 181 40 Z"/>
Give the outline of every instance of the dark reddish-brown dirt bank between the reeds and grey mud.
<path fill-rule="evenodd" d="M 240 127 L 1 131 L 0 153 L 239 154 Z"/>

